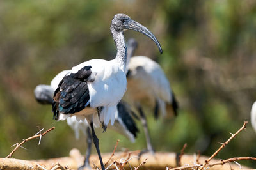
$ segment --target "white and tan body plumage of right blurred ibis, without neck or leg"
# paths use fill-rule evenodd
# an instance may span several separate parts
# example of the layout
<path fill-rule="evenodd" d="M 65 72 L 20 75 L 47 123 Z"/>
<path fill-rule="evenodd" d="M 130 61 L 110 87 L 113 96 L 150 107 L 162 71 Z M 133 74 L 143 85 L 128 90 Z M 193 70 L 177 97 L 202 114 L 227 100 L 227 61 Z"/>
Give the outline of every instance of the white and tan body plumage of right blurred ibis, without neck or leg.
<path fill-rule="evenodd" d="M 161 66 L 146 56 L 134 56 L 127 67 L 128 87 L 125 99 L 137 105 L 154 106 L 157 102 L 163 116 L 166 116 L 166 104 L 172 104 L 170 83 Z"/>

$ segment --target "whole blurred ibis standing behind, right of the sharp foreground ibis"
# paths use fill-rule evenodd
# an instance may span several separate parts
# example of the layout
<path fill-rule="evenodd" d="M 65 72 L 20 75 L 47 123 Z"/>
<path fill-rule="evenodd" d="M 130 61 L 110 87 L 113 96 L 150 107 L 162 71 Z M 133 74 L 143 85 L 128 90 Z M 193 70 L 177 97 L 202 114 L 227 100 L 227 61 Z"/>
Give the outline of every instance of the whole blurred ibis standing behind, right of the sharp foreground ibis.
<path fill-rule="evenodd" d="M 177 115 L 178 104 L 170 88 L 170 83 L 161 66 L 146 56 L 133 56 L 137 42 L 127 43 L 127 91 L 124 100 L 134 105 L 140 113 L 140 119 L 147 141 L 147 150 L 154 154 L 148 132 L 147 118 L 142 107 L 154 107 L 154 116 Z M 132 57 L 133 56 L 133 57 Z"/>

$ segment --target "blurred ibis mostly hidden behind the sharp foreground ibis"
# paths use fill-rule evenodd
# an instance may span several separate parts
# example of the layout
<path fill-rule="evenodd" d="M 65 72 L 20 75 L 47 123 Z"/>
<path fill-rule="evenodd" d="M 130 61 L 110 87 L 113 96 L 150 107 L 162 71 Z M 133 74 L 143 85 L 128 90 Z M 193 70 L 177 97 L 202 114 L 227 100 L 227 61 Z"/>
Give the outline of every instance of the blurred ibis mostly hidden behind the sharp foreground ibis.
<path fill-rule="evenodd" d="M 34 94 L 36 100 L 40 104 L 52 104 L 54 91 L 66 73 L 68 73 L 68 70 L 64 70 L 63 72 L 60 72 L 58 75 L 56 75 L 56 77 L 54 77 L 54 79 L 51 81 L 51 86 L 45 84 L 36 86 Z M 138 133 L 138 128 L 132 119 L 131 114 L 134 113 L 132 112 L 129 105 L 121 100 L 117 105 L 115 124 L 109 126 L 108 128 L 119 132 L 120 134 L 130 139 L 132 143 L 134 143 Z M 97 121 L 99 121 L 99 119 Z M 92 150 L 92 134 L 90 126 L 86 120 L 77 120 L 75 116 L 67 118 L 67 123 L 74 130 L 76 139 L 79 139 L 80 131 L 83 132 L 83 134 L 86 136 L 88 148 L 86 149 L 84 164 L 83 166 L 79 167 L 79 169 L 83 169 L 84 167 L 88 167 L 90 169 L 91 167 L 89 164 L 89 158 Z"/>

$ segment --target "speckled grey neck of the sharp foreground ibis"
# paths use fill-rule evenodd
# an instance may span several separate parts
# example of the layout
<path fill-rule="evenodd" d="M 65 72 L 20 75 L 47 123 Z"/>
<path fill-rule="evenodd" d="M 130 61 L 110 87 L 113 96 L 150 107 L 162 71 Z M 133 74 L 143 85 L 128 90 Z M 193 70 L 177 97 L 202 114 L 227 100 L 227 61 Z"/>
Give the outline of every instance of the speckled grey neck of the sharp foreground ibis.
<path fill-rule="evenodd" d="M 127 50 L 124 41 L 124 31 L 116 31 L 111 29 L 111 34 L 113 36 L 114 42 L 116 44 L 116 61 L 118 62 L 119 67 L 125 71 L 126 60 L 127 60 Z"/>

